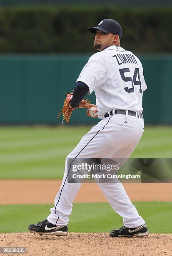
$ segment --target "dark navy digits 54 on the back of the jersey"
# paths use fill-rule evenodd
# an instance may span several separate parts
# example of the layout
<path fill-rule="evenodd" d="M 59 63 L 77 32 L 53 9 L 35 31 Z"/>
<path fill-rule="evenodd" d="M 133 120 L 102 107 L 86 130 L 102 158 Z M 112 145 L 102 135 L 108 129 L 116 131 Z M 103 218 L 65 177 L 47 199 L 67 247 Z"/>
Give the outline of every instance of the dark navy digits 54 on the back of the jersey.
<path fill-rule="evenodd" d="M 141 82 L 140 82 L 140 74 L 139 74 L 139 69 L 138 68 L 135 68 L 135 72 L 134 72 L 134 75 L 133 75 L 133 78 L 132 77 L 125 77 L 124 73 L 126 72 L 130 72 L 130 69 L 128 68 L 125 68 L 125 69 L 119 69 L 120 71 L 120 75 L 121 75 L 121 78 L 123 81 L 125 82 L 131 82 L 132 83 L 132 88 L 128 88 L 128 87 L 125 87 L 124 90 L 126 92 L 134 92 L 135 89 L 134 89 L 134 85 L 140 85 L 140 93 L 142 93 L 142 88 L 141 88 Z M 138 76 L 138 81 L 136 81 L 136 78 Z"/>

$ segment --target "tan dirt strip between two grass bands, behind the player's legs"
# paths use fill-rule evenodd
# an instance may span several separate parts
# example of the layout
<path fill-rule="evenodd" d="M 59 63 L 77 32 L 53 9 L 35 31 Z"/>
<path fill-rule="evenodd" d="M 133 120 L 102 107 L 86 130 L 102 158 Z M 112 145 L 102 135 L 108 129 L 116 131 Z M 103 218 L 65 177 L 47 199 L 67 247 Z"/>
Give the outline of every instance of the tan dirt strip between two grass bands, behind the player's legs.
<path fill-rule="evenodd" d="M 0 180 L 0 205 L 53 203 L 60 180 Z M 132 201 L 172 201 L 172 183 L 124 183 Z M 10 189 L 9 189 L 10 188 Z M 97 184 L 82 184 L 74 202 L 107 202 Z"/>

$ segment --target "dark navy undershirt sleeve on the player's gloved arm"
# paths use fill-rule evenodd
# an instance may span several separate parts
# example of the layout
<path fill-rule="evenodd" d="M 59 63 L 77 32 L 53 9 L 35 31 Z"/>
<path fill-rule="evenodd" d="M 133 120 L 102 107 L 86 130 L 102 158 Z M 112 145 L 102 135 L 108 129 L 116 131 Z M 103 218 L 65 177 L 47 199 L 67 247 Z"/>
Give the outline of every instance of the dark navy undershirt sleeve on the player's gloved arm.
<path fill-rule="evenodd" d="M 70 102 L 70 105 L 72 108 L 76 108 L 77 105 L 80 103 L 81 100 L 83 100 L 84 96 L 87 94 L 89 91 L 89 87 L 87 84 L 78 81 L 75 85 L 74 91 L 73 91 L 73 97 Z"/>

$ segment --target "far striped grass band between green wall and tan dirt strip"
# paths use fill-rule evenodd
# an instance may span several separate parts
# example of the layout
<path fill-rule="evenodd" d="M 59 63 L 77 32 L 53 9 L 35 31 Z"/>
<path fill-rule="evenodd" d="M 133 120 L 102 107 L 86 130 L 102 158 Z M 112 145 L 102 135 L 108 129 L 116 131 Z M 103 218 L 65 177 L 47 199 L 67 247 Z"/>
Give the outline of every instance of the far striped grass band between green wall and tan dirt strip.
<path fill-rule="evenodd" d="M 67 154 L 90 128 L 0 127 L 0 179 L 61 179 Z M 171 158 L 172 128 L 145 127 L 131 157 Z"/>

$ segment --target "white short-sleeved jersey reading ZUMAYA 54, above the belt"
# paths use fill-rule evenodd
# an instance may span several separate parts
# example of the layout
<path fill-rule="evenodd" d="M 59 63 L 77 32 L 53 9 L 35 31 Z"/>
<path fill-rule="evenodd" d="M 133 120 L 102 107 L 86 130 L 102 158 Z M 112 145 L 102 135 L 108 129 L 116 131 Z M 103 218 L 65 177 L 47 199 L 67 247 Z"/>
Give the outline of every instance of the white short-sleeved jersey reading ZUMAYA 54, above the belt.
<path fill-rule="evenodd" d="M 142 93 L 147 89 L 140 60 L 131 51 L 110 46 L 92 55 L 77 82 L 95 91 L 98 117 L 111 110 L 142 112 Z"/>

